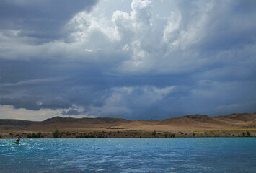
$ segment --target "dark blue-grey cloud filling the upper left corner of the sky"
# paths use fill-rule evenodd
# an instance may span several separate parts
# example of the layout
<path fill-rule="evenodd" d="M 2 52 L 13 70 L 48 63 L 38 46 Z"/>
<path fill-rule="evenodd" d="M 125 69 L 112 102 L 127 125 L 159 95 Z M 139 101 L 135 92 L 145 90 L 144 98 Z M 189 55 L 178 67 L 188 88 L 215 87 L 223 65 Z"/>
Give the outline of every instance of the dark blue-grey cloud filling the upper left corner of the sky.
<path fill-rule="evenodd" d="M 74 14 L 92 10 L 97 0 L 26 0 L 0 1 L 0 29 L 19 30 L 20 37 L 35 37 L 38 41 L 56 40 L 65 36 L 63 28 Z"/>

